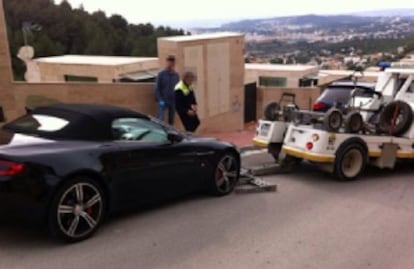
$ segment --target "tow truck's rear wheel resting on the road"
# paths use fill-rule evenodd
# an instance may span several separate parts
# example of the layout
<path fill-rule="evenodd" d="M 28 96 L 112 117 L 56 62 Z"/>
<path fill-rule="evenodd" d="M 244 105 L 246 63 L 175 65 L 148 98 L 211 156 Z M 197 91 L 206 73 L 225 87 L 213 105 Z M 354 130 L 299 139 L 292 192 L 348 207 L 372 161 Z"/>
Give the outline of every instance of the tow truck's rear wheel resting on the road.
<path fill-rule="evenodd" d="M 349 141 L 339 148 L 335 158 L 335 176 L 344 181 L 356 179 L 367 164 L 366 148 L 358 142 Z"/>

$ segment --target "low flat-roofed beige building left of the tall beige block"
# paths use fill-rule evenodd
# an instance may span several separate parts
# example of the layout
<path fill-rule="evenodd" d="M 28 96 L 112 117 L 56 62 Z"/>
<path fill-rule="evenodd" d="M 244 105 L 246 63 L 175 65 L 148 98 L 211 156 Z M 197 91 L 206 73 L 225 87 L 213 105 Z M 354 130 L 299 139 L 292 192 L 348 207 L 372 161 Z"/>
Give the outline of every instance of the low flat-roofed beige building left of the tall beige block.
<path fill-rule="evenodd" d="M 159 70 L 158 58 L 63 55 L 25 62 L 28 82 L 139 82 L 153 79 Z"/>

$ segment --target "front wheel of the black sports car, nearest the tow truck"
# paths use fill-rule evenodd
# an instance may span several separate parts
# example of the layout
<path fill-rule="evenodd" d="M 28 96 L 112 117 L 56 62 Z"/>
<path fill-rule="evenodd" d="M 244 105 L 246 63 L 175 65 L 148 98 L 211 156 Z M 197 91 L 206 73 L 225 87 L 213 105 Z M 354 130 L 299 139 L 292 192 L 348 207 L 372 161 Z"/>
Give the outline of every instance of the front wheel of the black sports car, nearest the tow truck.
<path fill-rule="evenodd" d="M 240 162 L 233 153 L 225 153 L 214 165 L 213 177 L 209 181 L 210 194 L 225 196 L 233 192 L 240 177 Z"/>

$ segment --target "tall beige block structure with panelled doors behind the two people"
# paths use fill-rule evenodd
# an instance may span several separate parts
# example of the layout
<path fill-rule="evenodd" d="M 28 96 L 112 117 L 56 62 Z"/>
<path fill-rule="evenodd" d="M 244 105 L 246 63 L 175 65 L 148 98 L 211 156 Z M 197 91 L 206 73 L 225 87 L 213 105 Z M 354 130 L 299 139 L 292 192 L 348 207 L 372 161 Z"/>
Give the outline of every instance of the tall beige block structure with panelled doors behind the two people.
<path fill-rule="evenodd" d="M 243 129 L 244 35 L 214 33 L 160 38 L 158 53 L 163 63 L 175 55 L 177 71 L 197 76 L 195 92 L 202 130 Z"/>

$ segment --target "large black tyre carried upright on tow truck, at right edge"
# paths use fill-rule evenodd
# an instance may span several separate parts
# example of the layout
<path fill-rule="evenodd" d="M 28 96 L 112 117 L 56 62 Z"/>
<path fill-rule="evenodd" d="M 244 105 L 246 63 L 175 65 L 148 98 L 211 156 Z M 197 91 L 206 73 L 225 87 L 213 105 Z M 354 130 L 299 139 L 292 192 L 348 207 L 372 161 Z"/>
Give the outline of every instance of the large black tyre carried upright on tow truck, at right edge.
<path fill-rule="evenodd" d="M 397 122 L 392 126 L 394 117 L 397 117 Z M 409 104 L 403 101 L 391 102 L 381 112 L 379 129 L 384 134 L 401 136 L 411 128 L 413 117 L 413 109 Z"/>

